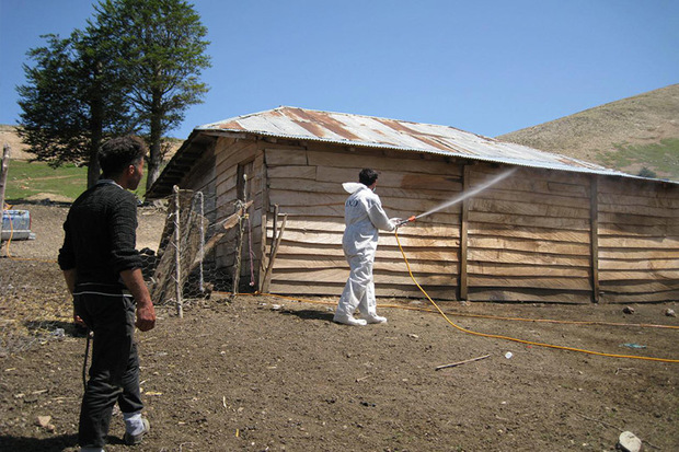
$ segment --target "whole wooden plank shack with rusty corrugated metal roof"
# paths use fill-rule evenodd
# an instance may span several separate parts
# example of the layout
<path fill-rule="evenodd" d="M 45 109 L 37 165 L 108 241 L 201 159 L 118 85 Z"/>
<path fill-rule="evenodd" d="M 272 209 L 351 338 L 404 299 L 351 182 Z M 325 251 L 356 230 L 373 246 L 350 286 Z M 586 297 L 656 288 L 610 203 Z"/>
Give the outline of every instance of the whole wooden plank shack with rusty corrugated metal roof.
<path fill-rule="evenodd" d="M 390 217 L 419 215 L 514 170 L 502 182 L 402 228 L 417 281 L 440 300 L 679 300 L 679 183 L 646 179 L 452 127 L 279 107 L 196 128 L 149 190 L 204 193 L 212 222 L 253 200 L 255 288 L 340 295 L 343 182 L 380 173 Z M 278 217 L 274 215 L 278 212 Z M 269 278 L 273 231 L 286 228 Z M 235 233 L 215 264 L 235 262 Z M 251 275 L 242 266 L 242 283 Z M 421 297 L 393 233 L 375 264 L 378 297 Z M 244 288 L 244 287 L 243 287 Z"/>

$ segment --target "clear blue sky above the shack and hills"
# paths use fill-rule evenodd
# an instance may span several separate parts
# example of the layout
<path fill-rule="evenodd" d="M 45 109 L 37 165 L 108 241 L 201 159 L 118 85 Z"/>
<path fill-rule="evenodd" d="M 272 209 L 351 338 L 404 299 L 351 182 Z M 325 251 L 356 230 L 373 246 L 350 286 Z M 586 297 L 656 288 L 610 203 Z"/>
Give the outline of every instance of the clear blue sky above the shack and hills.
<path fill-rule="evenodd" d="M 0 124 L 41 34 L 66 37 L 92 0 L 0 0 Z M 210 91 L 170 135 L 290 105 L 494 137 L 679 83 L 679 1 L 192 2 Z"/>

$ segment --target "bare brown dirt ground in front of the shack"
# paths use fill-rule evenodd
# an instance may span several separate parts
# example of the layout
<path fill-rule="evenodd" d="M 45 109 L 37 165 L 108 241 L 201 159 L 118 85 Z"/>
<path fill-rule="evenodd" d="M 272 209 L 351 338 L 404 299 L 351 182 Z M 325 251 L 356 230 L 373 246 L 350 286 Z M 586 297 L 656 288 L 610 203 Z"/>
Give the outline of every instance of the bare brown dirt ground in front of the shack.
<path fill-rule="evenodd" d="M 77 451 L 85 339 L 54 262 L 68 206 L 15 208 L 31 210 L 37 239 L 0 258 L 0 450 Z M 138 245 L 154 248 L 163 215 L 139 218 Z M 378 308 L 389 323 L 366 327 L 332 323 L 334 300 L 311 301 L 214 294 L 184 318 L 160 308 L 156 329 L 137 336 L 151 431 L 135 449 L 609 451 L 629 430 L 646 451 L 679 450 L 679 363 L 467 334 L 422 311 L 426 300 L 379 300 L 393 306 Z M 677 304 L 441 308 L 474 332 L 677 360 L 679 321 L 665 315 Z M 123 432 L 116 414 L 107 451 L 131 450 Z"/>

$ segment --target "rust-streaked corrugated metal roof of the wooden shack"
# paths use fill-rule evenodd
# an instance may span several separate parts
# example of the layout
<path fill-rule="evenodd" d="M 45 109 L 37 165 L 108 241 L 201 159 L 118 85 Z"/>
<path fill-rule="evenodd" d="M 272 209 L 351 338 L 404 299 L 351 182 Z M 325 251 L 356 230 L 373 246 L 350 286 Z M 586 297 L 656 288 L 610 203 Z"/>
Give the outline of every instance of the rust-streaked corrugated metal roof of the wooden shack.
<path fill-rule="evenodd" d="M 207 124 L 196 131 L 246 132 L 354 147 L 428 152 L 519 166 L 634 177 L 617 170 L 449 126 L 281 106 Z"/>

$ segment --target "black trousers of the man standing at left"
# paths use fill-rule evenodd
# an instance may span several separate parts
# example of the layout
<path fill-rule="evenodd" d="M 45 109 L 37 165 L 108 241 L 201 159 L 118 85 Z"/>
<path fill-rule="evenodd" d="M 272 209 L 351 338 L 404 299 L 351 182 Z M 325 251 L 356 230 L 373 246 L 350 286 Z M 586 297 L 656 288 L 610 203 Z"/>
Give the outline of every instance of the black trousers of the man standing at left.
<path fill-rule="evenodd" d="M 130 295 L 122 292 L 80 287 L 76 287 L 73 303 L 76 313 L 94 333 L 78 442 L 81 447 L 103 448 L 116 402 L 123 413 L 143 408 L 139 394 L 139 357 L 134 341 L 135 304 Z"/>

